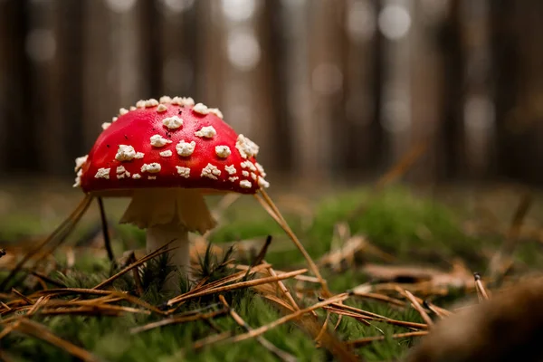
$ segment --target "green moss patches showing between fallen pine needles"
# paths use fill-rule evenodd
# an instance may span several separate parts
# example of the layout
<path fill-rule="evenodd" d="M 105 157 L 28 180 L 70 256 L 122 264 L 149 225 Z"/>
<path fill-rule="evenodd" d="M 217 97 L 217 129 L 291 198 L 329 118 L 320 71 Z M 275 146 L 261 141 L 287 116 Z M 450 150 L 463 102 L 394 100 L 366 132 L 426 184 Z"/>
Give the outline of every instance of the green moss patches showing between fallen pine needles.
<path fill-rule="evenodd" d="M 213 201 L 212 201 L 213 204 Z M 356 210 L 362 205 L 362 210 Z M 122 205 L 107 204 L 111 219 L 116 220 Z M 93 206 L 94 207 L 94 206 Z M 280 204 L 281 207 L 281 204 Z M 501 243 L 497 234 L 476 237 L 464 232 L 462 223 L 471 217 L 470 210 L 460 207 L 451 209 L 442 205 L 433 198 L 424 195 L 414 195 L 404 187 L 393 187 L 381 193 L 373 193 L 368 188 L 342 192 L 336 195 L 326 195 L 310 200 L 306 209 L 309 213 L 303 214 L 296 207 L 285 207 L 285 216 L 302 243 L 316 260 L 324 253 L 329 252 L 334 228 L 339 222 L 347 222 L 350 233 L 361 233 L 367 240 L 381 249 L 394 255 L 397 263 L 424 264 L 446 268 L 454 258 L 461 258 L 468 269 L 484 271 L 488 264 L 488 255 L 485 251 L 493 251 Z M 514 207 L 510 208 L 511 214 Z M 93 214 L 94 213 L 94 214 Z M 309 216 L 307 215 L 309 214 Z M 92 216 L 94 215 L 94 216 Z M 69 243 L 76 243 L 84 237 L 85 233 L 96 227 L 95 211 L 85 218 L 80 227 L 71 236 Z M 308 224 L 304 217 L 310 217 Z M 53 216 L 52 223 L 36 222 L 34 216 L 24 215 L 23 210 L 5 214 L 0 220 L 0 240 L 9 246 L 28 235 L 51 231 L 55 222 L 62 218 Z M 507 224 L 507 222 L 505 222 Z M 130 226 L 116 226 L 114 234 L 115 252 L 119 255 L 123 249 L 141 248 L 144 245 L 143 234 Z M 275 224 L 262 208 L 251 198 L 236 201 L 224 214 L 223 224 L 211 236 L 213 243 L 233 242 L 246 239 L 264 240 L 267 235 L 274 237 L 274 242 L 280 245 L 290 244 L 286 241 L 281 228 Z M 272 244 L 273 245 L 273 244 Z M 530 269 L 542 262 L 540 243 L 527 242 L 519 246 L 517 252 L 518 265 L 522 270 Z M 300 252 L 289 248 L 288 252 L 281 248 L 271 247 L 266 255 L 266 262 L 270 262 L 278 270 L 291 270 L 304 267 L 305 262 Z M 63 255 L 57 255 L 62 261 Z M 359 265 L 364 262 L 382 262 L 375 256 L 368 254 Z M 221 269 L 214 270 L 213 265 L 218 262 L 207 261 L 207 273 L 214 278 L 223 276 Z M 153 267 L 153 265 L 155 265 Z M 154 269 L 153 269 L 154 268 Z M 322 269 L 325 279 L 333 292 L 347 291 L 361 283 L 370 281 L 362 268 L 354 266 L 343 272 L 333 272 Z M 51 277 L 62 281 L 66 286 L 89 288 L 110 276 L 110 265 L 105 258 L 97 258 L 92 252 L 78 253 L 75 266 L 67 274 L 52 271 Z M 147 268 L 149 273 L 144 275 L 144 284 L 147 292 L 142 298 L 158 305 L 167 297 L 157 292 L 157 285 L 153 283 L 159 268 L 153 263 Z M 153 274 L 155 273 L 155 274 Z M 0 274 L 0 280 L 5 278 L 5 271 Z M 127 274 L 128 275 L 128 274 Z M 115 281 L 114 287 L 121 290 L 133 288 L 134 281 L 126 276 Z M 291 281 L 286 282 L 291 286 Z M 263 324 L 281 317 L 281 311 L 262 298 L 254 291 L 233 291 L 224 294 L 231 306 L 252 327 L 257 328 Z M 450 298 L 441 299 L 443 303 L 451 303 L 462 298 L 462 293 L 452 293 Z M 310 305 L 311 300 L 299 300 L 301 305 Z M 204 305 L 218 303 L 216 297 L 209 297 L 192 301 L 184 305 L 182 310 L 195 310 Z M 419 314 L 411 309 L 397 310 L 378 301 L 348 300 L 348 305 L 369 310 L 393 319 L 414 322 L 423 322 Z M 443 306 L 447 306 L 444 304 Z M 214 307 L 218 310 L 220 307 Z M 319 311 L 319 315 L 324 313 Z M 122 317 L 40 317 L 33 319 L 42 322 L 52 329 L 52 332 L 61 338 L 81 346 L 107 361 L 273 361 L 276 358 L 262 346 L 250 339 L 235 344 L 217 344 L 210 348 L 195 351 L 191 348 L 195 340 L 216 333 L 217 330 L 233 330 L 239 333 L 239 327 L 227 314 L 213 319 L 212 324 L 205 321 L 190 322 L 180 325 L 171 325 L 160 329 L 152 329 L 131 335 L 129 330 L 148 322 L 157 320 L 157 316 L 126 314 Z M 335 325 L 337 316 L 333 316 L 330 325 Z M 379 336 L 383 333 L 391 335 L 405 332 L 406 329 L 390 326 L 384 323 L 372 323 L 366 326 L 355 319 L 343 318 L 336 331 L 338 338 L 343 340 L 370 336 Z M 328 352 L 316 348 L 315 343 L 295 323 L 287 323 L 278 328 L 271 329 L 263 336 L 276 347 L 281 348 L 300 361 L 329 360 Z M 413 345 L 415 339 L 386 339 L 358 348 L 356 353 L 366 360 L 395 360 L 402 357 L 406 350 Z M 36 338 L 29 338 L 21 334 L 10 333 L 0 340 L 0 348 L 16 361 L 73 360 L 65 351 L 52 347 Z"/>

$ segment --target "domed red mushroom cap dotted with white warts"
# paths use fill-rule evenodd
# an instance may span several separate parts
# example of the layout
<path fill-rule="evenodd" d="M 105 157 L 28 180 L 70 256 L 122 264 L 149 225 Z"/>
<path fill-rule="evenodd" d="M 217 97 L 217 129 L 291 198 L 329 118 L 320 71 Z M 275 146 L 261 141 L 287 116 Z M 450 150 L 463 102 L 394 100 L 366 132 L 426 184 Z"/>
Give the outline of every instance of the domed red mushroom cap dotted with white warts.
<path fill-rule="evenodd" d="M 102 125 L 89 155 L 76 160 L 74 186 L 86 193 L 183 187 L 242 194 L 268 186 L 258 146 L 236 134 L 220 110 L 179 97 L 137 106 Z"/>

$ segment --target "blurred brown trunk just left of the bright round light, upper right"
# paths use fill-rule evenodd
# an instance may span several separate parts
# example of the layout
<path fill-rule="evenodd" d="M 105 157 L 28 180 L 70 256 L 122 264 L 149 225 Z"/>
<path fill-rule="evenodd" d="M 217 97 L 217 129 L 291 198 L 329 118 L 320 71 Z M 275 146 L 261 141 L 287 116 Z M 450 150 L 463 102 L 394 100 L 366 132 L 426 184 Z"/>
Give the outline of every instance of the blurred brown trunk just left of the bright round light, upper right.
<path fill-rule="evenodd" d="M 335 164 L 348 175 L 367 174 L 383 160 L 378 104 L 382 92 L 383 38 L 376 28 L 377 13 L 376 0 L 348 0 L 345 4 L 345 84 L 341 111 L 345 112 L 346 122 L 338 125 L 340 132 L 336 131 L 338 139 L 345 139 L 345 148 Z"/>

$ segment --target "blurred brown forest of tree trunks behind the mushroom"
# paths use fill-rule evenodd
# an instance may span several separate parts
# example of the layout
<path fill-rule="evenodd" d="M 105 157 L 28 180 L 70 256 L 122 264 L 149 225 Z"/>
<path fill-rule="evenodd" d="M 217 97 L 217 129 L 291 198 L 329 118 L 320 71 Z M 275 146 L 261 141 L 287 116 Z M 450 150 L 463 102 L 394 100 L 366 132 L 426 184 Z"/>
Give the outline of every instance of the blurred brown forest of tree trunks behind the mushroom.
<path fill-rule="evenodd" d="M 73 176 L 100 124 L 192 96 L 275 175 L 543 181 L 540 0 L 0 0 L 0 178 Z"/>

